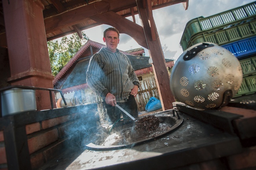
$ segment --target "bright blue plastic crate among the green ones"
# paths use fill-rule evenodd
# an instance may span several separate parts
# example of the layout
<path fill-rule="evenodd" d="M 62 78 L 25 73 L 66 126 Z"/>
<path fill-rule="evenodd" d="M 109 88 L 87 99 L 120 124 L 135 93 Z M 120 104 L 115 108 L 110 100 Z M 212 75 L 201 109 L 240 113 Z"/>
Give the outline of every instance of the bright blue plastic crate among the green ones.
<path fill-rule="evenodd" d="M 228 49 L 237 58 L 241 58 L 245 55 L 256 53 L 256 37 L 225 44 L 222 47 Z"/>

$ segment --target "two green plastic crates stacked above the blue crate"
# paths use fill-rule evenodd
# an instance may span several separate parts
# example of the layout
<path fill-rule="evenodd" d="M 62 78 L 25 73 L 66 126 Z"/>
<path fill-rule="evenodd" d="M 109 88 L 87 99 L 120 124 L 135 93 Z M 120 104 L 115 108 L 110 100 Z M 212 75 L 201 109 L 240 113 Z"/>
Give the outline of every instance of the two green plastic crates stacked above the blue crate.
<path fill-rule="evenodd" d="M 187 22 L 180 45 L 185 50 L 199 42 L 227 44 L 256 35 L 256 2 Z"/>

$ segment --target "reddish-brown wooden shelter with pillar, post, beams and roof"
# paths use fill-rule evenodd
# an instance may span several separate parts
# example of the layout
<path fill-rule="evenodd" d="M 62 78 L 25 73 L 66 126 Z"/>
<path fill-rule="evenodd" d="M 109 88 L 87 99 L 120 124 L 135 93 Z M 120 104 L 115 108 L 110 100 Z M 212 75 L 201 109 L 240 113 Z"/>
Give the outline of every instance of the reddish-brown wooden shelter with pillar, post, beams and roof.
<path fill-rule="evenodd" d="M 6 81 L 53 88 L 46 42 L 75 32 L 82 38 L 82 30 L 107 24 L 149 49 L 163 110 L 171 109 L 174 97 L 152 10 L 178 3 L 187 9 L 188 0 L 0 0 L 0 46 L 8 49 L 10 66 Z M 135 23 L 136 14 L 143 26 Z M 47 92 L 36 96 L 38 110 L 51 107 Z"/>

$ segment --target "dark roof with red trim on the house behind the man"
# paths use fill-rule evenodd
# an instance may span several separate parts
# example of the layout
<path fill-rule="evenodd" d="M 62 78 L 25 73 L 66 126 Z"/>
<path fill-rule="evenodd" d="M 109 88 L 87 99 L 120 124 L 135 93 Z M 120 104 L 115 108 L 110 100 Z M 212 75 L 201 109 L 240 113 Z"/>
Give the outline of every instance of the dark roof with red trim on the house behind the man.
<path fill-rule="evenodd" d="M 78 86 L 80 84 L 86 83 L 86 71 L 89 65 L 90 46 L 93 47 L 93 54 L 98 52 L 104 44 L 100 44 L 91 40 L 88 40 L 85 45 L 71 58 L 71 60 L 66 64 L 66 66 L 61 69 L 61 71 L 56 75 L 54 79 L 54 88 L 65 89 L 73 86 Z M 120 50 L 121 51 L 121 50 Z M 88 53 L 90 52 L 90 53 Z M 130 55 L 125 51 L 121 51 L 130 59 L 132 67 L 134 70 L 140 70 L 143 68 L 149 68 L 152 64 L 149 64 L 148 60 L 150 57 L 142 57 Z M 86 55 L 83 55 L 86 53 Z M 173 60 L 165 59 L 165 62 L 171 62 Z"/>

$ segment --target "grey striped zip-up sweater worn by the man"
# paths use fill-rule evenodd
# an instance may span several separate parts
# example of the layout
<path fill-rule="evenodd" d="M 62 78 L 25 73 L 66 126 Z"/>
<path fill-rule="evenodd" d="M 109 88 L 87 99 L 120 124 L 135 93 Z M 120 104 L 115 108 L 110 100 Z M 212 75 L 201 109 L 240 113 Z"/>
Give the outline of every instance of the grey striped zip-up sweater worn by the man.
<path fill-rule="evenodd" d="M 102 47 L 91 59 L 86 72 L 88 86 L 103 98 L 110 92 L 117 101 L 129 96 L 139 80 L 129 58 L 118 49 L 112 53 Z"/>

